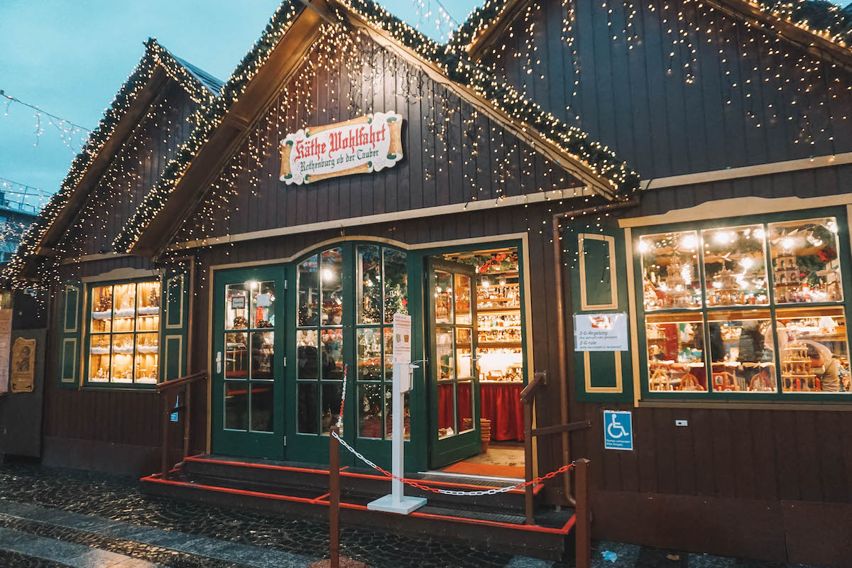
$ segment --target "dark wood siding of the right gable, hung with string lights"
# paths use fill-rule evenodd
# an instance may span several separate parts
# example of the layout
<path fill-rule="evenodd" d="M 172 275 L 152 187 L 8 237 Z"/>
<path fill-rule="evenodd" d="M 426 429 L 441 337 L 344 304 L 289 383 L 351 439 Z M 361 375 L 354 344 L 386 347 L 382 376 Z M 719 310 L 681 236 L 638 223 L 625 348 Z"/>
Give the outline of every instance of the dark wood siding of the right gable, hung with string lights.
<path fill-rule="evenodd" d="M 772 32 L 688 0 L 531 5 L 483 62 L 642 179 L 852 150 L 850 73 Z"/>

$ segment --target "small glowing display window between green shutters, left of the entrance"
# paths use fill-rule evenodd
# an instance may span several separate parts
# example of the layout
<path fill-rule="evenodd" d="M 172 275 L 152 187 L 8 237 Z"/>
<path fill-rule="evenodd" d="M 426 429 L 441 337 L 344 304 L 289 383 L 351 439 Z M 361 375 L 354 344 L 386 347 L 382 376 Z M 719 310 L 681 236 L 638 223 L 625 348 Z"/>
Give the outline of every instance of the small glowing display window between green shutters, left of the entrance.
<path fill-rule="evenodd" d="M 87 382 L 158 382 L 160 283 L 97 284 L 89 288 Z"/>

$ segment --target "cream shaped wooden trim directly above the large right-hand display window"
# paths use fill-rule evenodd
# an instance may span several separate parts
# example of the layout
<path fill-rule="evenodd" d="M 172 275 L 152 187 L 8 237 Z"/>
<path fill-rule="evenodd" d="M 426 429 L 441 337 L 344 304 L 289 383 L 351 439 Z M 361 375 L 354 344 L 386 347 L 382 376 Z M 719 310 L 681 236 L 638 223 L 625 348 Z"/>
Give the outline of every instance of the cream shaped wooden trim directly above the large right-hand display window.
<path fill-rule="evenodd" d="M 707 201 L 687 209 L 672 209 L 659 215 L 619 219 L 619 227 L 648 227 L 668 225 L 683 221 L 708 221 L 728 219 L 740 215 L 766 215 L 783 211 L 817 209 L 852 204 L 852 193 L 828 195 L 820 198 L 730 198 Z"/>

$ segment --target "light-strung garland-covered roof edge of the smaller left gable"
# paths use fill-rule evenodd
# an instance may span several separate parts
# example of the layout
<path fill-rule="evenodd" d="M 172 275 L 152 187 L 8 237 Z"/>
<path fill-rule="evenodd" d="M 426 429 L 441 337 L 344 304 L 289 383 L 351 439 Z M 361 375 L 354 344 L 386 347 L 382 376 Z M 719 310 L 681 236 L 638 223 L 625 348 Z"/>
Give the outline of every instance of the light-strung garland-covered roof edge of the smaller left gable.
<path fill-rule="evenodd" d="M 118 90 L 101 122 L 89 134 L 89 139 L 74 158 L 59 191 L 50 198 L 36 221 L 25 232 L 17 254 L 3 270 L 4 278 L 16 278 L 26 273 L 30 263 L 36 260 L 33 255 L 55 255 L 55 247 L 66 227 L 74 220 L 89 192 L 112 162 L 114 153 L 146 115 L 158 87 L 169 77 L 199 104 L 210 104 L 215 100 L 218 95 L 216 85 L 221 86 L 215 77 L 198 67 L 190 68 L 186 62 L 171 55 L 156 39 L 149 38 L 145 42 L 145 55 Z"/>

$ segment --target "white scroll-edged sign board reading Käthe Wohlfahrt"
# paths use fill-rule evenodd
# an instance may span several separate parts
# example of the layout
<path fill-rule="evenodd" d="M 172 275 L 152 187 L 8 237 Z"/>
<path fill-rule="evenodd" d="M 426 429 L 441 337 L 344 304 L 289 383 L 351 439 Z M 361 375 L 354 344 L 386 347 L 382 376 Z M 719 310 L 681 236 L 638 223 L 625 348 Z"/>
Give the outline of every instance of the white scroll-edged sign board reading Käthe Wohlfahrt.
<path fill-rule="evenodd" d="M 281 141 L 280 180 L 289 186 L 369 174 L 401 159 L 402 116 L 376 112 L 288 134 Z"/>

